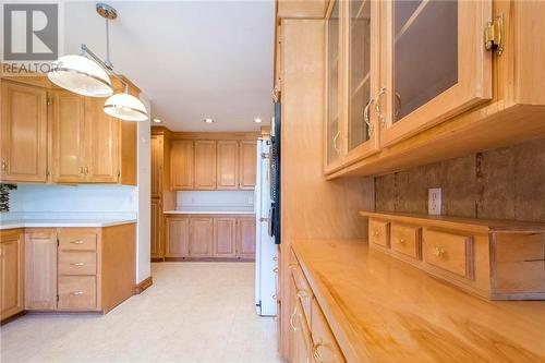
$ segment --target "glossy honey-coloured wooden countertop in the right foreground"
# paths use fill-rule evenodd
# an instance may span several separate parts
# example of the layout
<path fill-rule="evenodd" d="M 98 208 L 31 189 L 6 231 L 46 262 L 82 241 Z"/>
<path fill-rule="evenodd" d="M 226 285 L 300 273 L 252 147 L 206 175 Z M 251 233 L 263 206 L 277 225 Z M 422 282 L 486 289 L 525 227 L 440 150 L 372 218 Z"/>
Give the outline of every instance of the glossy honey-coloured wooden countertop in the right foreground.
<path fill-rule="evenodd" d="M 487 301 L 364 241 L 293 250 L 349 362 L 545 362 L 545 301 Z"/>

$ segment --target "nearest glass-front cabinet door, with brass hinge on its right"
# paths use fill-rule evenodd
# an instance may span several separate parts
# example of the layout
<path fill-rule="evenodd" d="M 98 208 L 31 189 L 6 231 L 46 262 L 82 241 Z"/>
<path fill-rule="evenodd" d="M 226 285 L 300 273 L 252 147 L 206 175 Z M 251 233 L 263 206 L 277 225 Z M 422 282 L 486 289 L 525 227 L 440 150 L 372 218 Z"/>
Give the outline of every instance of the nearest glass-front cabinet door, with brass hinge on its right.
<path fill-rule="evenodd" d="M 376 95 L 382 146 L 492 98 L 492 55 L 483 40 L 491 0 L 392 0 L 380 7 L 389 68 Z"/>

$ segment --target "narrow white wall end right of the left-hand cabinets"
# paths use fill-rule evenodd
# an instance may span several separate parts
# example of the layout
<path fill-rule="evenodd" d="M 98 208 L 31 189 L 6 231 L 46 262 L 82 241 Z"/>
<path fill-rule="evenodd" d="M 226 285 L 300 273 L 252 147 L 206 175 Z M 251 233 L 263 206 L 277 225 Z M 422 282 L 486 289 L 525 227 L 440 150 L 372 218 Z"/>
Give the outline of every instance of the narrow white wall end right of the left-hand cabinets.
<path fill-rule="evenodd" d="M 152 114 L 152 105 L 145 95 L 141 99 Z M 136 282 L 152 276 L 152 148 L 149 120 L 138 123 L 138 230 L 136 245 Z"/>

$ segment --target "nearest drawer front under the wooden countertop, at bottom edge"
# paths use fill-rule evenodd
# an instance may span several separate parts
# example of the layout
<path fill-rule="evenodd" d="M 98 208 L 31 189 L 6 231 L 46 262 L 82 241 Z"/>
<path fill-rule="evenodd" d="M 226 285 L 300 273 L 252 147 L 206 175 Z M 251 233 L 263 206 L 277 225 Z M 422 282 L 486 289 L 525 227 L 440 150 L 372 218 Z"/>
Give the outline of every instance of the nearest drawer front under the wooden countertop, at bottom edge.
<path fill-rule="evenodd" d="M 315 299 L 312 301 L 311 332 L 313 341 L 312 354 L 317 362 L 346 362 L 326 317 Z"/>

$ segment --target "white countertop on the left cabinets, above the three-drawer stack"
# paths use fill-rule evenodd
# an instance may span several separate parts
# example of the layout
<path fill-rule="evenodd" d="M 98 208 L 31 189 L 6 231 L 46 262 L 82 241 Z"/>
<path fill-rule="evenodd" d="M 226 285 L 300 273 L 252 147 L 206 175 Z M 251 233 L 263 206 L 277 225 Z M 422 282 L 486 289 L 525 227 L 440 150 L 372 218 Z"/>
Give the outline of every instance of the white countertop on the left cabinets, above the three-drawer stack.
<path fill-rule="evenodd" d="M 135 223 L 136 219 L 25 219 L 0 222 L 0 230 L 14 228 L 111 227 Z"/>

